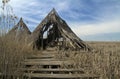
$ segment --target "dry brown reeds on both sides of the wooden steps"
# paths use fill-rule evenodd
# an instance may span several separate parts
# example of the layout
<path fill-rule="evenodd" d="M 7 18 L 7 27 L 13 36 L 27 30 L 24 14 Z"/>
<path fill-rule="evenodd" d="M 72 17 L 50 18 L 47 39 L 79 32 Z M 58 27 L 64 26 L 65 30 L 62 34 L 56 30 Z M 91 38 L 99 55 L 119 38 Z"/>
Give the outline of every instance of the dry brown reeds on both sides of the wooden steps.
<path fill-rule="evenodd" d="M 94 51 L 59 51 L 59 57 L 72 59 L 74 64 L 71 68 L 82 68 L 88 74 L 100 76 L 100 79 L 120 79 L 120 43 L 87 43 Z M 12 79 L 14 76 L 22 76 L 21 62 L 36 52 L 40 53 L 10 37 L 0 37 L 0 73 L 13 75 Z M 65 65 L 63 67 L 70 68 Z M 10 79 L 10 77 L 6 76 L 4 79 Z"/>

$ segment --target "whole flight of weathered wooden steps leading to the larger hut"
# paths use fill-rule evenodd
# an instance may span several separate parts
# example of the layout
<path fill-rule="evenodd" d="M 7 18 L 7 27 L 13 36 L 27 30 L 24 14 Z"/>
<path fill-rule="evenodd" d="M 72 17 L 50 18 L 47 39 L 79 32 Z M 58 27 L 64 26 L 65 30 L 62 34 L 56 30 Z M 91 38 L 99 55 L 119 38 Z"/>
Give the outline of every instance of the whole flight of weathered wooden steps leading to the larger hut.
<path fill-rule="evenodd" d="M 43 51 L 27 58 L 23 62 L 25 79 L 99 79 L 98 76 L 86 74 L 83 69 L 62 68 L 63 64 L 70 66 L 73 61 L 56 58 L 57 54 Z"/>

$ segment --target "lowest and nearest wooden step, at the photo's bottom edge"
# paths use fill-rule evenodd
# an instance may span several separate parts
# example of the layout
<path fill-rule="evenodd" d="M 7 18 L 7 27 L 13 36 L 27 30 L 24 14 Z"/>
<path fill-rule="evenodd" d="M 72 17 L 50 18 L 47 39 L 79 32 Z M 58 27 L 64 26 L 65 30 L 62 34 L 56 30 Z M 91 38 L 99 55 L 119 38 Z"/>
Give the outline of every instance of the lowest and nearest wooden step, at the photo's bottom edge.
<path fill-rule="evenodd" d="M 84 79 L 98 79 L 98 76 L 87 75 L 87 74 L 38 74 L 38 73 L 25 73 L 24 76 L 30 78 L 57 78 L 57 79 L 73 79 L 73 78 L 84 78 Z"/>

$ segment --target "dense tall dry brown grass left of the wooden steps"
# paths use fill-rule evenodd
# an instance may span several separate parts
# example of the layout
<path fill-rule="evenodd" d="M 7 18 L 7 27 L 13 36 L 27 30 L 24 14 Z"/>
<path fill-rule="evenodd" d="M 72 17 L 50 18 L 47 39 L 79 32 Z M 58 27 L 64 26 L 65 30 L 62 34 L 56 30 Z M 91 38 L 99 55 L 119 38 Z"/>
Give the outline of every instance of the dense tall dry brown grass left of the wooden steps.
<path fill-rule="evenodd" d="M 22 77 L 22 61 L 32 53 L 34 51 L 23 42 L 16 41 L 11 36 L 0 36 L 0 73 L 3 74 L 0 78 Z"/>

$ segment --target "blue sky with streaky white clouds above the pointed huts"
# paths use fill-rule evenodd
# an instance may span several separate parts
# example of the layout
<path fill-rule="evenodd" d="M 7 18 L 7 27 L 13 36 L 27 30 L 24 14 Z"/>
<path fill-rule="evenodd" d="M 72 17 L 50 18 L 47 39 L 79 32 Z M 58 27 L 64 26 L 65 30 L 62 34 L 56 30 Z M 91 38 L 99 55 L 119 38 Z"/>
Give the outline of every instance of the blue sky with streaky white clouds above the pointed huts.
<path fill-rule="evenodd" d="M 55 8 L 81 39 L 120 41 L 120 0 L 11 0 L 9 4 L 31 31 Z"/>

